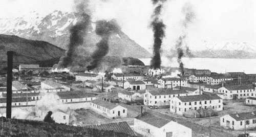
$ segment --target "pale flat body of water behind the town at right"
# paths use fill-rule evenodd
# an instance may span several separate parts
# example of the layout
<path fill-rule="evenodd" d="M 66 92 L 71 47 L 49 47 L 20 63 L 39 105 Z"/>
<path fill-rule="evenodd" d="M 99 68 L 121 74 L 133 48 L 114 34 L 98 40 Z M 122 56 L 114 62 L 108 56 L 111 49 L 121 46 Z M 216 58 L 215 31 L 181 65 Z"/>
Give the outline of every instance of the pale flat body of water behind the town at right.
<path fill-rule="evenodd" d="M 150 65 L 151 58 L 140 59 Z M 184 67 L 189 69 L 207 69 L 211 72 L 245 72 L 256 74 L 256 59 L 223 59 L 223 58 L 182 58 Z M 177 58 L 162 58 L 162 66 L 179 67 Z"/>

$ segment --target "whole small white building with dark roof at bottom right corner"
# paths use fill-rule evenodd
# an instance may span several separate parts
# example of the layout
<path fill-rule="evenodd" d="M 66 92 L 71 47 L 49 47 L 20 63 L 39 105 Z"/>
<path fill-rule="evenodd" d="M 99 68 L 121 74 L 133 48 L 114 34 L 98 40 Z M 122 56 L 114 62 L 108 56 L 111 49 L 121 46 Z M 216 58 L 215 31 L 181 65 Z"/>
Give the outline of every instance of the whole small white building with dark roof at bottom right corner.
<path fill-rule="evenodd" d="M 220 118 L 220 126 L 233 130 L 254 129 L 256 127 L 256 111 L 233 113 Z"/>

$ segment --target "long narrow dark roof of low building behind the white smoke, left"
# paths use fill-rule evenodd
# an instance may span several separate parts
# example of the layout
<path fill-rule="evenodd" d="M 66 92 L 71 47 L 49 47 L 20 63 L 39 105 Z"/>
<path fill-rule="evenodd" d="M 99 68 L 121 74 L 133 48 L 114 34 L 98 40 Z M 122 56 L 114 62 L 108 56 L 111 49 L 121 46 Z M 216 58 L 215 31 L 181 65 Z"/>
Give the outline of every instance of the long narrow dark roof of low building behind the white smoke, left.
<path fill-rule="evenodd" d="M 57 92 L 60 99 L 91 98 L 96 97 L 93 93 L 83 92 Z"/>

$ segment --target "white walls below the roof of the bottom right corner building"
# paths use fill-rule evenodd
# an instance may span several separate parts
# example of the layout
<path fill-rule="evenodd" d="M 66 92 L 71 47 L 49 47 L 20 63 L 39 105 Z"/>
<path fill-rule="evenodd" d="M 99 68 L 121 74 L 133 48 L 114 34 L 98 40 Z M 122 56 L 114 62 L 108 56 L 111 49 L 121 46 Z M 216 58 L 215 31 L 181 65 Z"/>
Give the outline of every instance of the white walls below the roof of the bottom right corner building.
<path fill-rule="evenodd" d="M 223 122 L 223 119 L 224 119 L 224 122 Z M 253 120 L 255 120 L 255 123 L 253 123 Z M 249 119 L 246 121 L 249 121 L 249 124 L 246 124 L 246 129 L 253 129 L 256 127 L 256 119 Z M 245 124 L 244 120 L 236 121 L 229 115 L 225 115 L 220 118 L 220 126 L 222 127 L 228 127 L 234 130 L 244 130 L 244 124 Z"/>

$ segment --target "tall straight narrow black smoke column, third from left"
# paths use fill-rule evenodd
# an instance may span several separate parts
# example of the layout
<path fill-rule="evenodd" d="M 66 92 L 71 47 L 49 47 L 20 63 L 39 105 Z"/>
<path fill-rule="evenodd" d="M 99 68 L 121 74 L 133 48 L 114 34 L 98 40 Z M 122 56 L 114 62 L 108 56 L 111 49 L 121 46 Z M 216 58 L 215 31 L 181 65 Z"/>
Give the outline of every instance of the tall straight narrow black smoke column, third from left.
<path fill-rule="evenodd" d="M 161 45 L 163 37 L 165 36 L 165 25 L 163 24 L 163 21 L 159 18 L 161 10 L 162 10 L 162 4 L 166 0 L 153 0 L 153 4 L 158 6 L 155 8 L 154 13 L 152 15 L 153 21 L 151 22 L 151 27 L 154 32 L 154 46 L 153 46 L 153 58 L 151 60 L 151 67 L 153 69 L 160 69 L 161 66 Z"/>

